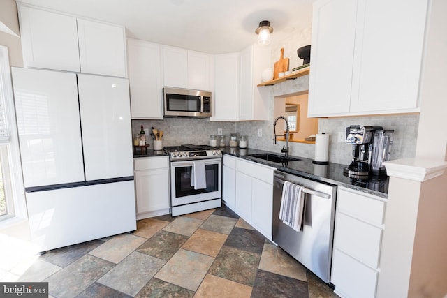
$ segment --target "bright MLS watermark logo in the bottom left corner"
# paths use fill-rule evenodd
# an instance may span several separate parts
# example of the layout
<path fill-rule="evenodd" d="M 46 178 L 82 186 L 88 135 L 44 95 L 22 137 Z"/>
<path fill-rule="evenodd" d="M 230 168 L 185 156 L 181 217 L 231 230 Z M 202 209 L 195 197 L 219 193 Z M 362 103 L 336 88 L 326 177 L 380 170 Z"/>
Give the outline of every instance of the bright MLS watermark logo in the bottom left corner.
<path fill-rule="evenodd" d="M 0 297 L 47 298 L 48 283 L 0 283 Z"/>

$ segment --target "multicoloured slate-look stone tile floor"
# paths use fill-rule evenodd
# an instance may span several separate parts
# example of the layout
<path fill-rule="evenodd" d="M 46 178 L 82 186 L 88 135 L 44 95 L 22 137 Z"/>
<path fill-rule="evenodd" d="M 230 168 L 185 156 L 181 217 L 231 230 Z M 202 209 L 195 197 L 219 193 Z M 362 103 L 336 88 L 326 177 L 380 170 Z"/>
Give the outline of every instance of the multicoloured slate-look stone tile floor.
<path fill-rule="evenodd" d="M 47 281 L 50 297 L 337 297 L 226 207 L 48 251 L 16 280 Z"/>

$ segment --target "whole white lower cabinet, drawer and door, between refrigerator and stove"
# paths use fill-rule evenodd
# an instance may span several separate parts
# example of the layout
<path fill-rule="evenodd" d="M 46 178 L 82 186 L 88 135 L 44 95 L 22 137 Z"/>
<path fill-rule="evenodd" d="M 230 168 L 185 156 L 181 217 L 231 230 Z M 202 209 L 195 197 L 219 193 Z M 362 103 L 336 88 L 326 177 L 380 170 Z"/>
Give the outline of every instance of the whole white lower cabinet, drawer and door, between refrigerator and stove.
<path fill-rule="evenodd" d="M 137 219 L 169 214 L 169 158 L 134 158 Z"/>

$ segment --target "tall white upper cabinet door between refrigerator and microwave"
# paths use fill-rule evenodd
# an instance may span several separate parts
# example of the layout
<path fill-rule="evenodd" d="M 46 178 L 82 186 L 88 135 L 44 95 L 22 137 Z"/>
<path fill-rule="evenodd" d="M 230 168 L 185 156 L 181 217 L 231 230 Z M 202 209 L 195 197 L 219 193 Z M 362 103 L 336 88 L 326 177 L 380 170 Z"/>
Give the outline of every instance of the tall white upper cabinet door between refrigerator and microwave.
<path fill-rule="evenodd" d="M 163 119 L 160 45 L 127 39 L 132 119 Z"/>

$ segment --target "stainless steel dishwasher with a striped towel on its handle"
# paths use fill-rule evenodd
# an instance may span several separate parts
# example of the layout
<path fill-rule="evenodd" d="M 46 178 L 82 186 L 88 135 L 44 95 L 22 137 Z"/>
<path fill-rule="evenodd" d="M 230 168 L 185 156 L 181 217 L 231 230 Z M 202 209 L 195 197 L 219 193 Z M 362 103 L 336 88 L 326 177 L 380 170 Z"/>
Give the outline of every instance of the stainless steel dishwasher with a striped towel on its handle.
<path fill-rule="evenodd" d="M 300 232 L 279 219 L 284 181 L 304 186 L 304 224 Z M 337 186 L 274 171 L 273 241 L 325 283 L 330 282 L 336 195 Z"/>

